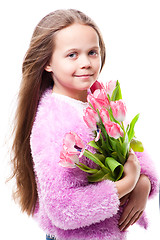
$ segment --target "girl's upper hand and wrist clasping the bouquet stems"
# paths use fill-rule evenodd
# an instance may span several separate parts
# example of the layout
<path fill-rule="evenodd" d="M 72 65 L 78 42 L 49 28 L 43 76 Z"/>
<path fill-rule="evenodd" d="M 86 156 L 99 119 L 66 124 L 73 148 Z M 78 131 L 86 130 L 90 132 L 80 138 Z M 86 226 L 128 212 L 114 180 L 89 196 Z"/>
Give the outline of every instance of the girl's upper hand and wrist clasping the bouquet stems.
<path fill-rule="evenodd" d="M 124 165 L 124 177 L 119 181 L 115 182 L 119 199 L 121 199 L 123 196 L 127 195 L 134 189 L 139 179 L 139 176 L 139 161 L 134 152 L 130 152 L 127 162 Z"/>

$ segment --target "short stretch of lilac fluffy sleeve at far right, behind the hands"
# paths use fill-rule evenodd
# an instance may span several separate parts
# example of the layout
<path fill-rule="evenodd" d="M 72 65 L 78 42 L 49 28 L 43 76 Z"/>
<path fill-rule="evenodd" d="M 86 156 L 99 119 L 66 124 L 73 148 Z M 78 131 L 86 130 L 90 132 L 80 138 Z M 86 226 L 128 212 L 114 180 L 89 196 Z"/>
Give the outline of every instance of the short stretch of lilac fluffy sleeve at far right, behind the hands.
<path fill-rule="evenodd" d="M 149 198 L 152 198 L 158 192 L 158 177 L 155 171 L 155 166 L 149 154 L 146 152 L 136 152 L 136 156 L 141 165 L 141 174 L 146 175 L 151 182 L 151 191 Z"/>

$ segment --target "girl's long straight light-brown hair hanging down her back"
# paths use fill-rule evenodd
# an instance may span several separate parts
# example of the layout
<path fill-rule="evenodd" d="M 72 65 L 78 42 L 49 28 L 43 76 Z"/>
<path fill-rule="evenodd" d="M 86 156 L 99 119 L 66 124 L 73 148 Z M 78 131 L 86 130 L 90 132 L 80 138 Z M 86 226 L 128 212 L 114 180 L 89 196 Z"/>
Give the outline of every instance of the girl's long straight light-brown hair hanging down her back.
<path fill-rule="evenodd" d="M 53 87 L 51 73 L 44 70 L 54 51 L 55 33 L 74 23 L 91 26 L 99 36 L 102 66 L 105 62 L 105 45 L 96 24 L 84 13 L 69 9 L 46 15 L 36 26 L 22 66 L 22 82 L 15 117 L 13 176 L 16 178 L 14 198 L 22 211 L 34 213 L 38 194 L 30 149 L 30 134 L 39 100 L 43 92 Z"/>

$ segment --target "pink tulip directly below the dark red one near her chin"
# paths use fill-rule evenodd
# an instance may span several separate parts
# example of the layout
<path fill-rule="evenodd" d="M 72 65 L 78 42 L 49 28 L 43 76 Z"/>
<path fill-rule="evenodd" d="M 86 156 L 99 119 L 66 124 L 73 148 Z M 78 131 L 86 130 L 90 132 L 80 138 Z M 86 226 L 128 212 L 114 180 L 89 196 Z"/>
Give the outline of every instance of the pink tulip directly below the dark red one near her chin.
<path fill-rule="evenodd" d="M 100 110 L 102 107 L 109 107 L 109 100 L 104 89 L 95 90 L 93 94 L 88 95 L 87 100 L 95 110 Z"/>

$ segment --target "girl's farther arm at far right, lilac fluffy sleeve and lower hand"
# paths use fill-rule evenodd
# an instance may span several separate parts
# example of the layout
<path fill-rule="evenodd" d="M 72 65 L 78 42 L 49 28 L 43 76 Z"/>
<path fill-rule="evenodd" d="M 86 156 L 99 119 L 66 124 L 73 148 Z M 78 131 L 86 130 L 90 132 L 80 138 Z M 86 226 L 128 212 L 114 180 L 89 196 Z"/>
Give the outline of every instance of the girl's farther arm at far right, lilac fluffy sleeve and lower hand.
<path fill-rule="evenodd" d="M 137 222 L 145 209 L 148 198 L 158 192 L 158 178 L 153 162 L 146 152 L 136 153 L 136 155 L 141 165 L 141 176 L 133 191 L 121 199 L 121 205 L 126 201 L 128 203 L 119 220 L 120 230 L 126 230 Z M 147 222 L 145 222 L 146 227 Z"/>

